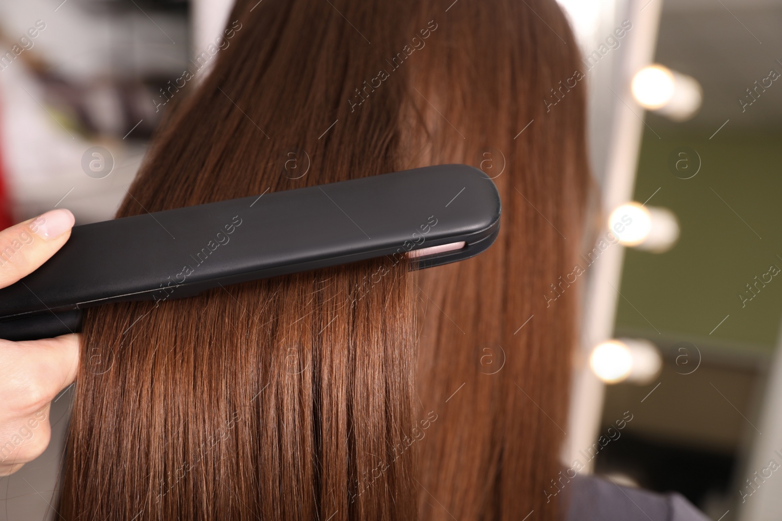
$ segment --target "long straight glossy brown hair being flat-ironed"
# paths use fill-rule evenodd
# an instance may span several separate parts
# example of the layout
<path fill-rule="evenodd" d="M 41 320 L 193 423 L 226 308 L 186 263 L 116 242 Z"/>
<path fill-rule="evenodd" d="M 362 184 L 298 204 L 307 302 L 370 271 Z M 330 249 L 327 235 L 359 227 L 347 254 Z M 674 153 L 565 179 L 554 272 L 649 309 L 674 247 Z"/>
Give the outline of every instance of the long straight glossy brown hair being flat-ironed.
<path fill-rule="evenodd" d="M 461 162 L 497 184 L 496 243 L 88 310 L 64 519 L 558 519 L 578 51 L 554 0 L 449 3 L 239 0 L 117 216 Z M 205 244 L 231 225 L 252 240 Z"/>

